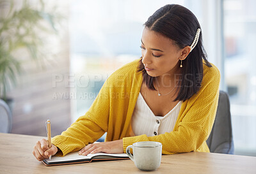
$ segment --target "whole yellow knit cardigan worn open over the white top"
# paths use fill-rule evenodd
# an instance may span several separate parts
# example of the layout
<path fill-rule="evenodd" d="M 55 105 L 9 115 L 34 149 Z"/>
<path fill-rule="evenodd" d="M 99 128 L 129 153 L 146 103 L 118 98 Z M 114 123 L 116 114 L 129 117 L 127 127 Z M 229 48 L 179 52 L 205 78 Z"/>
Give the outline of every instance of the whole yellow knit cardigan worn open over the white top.
<path fill-rule="evenodd" d="M 220 72 L 204 64 L 200 91 L 182 103 L 175 127 L 157 136 L 131 136 L 131 117 L 141 89 L 139 60 L 126 64 L 109 76 L 92 106 L 52 143 L 61 151 L 58 156 L 76 152 L 107 132 L 106 141 L 123 140 L 124 152 L 137 141 L 158 141 L 163 154 L 209 152 L 206 140 L 211 133 L 218 105 Z"/>

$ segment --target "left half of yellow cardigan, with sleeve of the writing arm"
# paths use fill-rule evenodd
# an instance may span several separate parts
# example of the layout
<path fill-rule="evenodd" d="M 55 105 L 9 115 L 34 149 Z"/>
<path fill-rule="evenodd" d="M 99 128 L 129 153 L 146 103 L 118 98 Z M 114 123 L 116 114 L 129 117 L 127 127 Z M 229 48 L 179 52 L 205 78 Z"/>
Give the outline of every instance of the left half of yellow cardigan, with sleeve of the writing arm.
<path fill-rule="evenodd" d="M 109 134 L 109 136 L 115 136 L 109 138 L 108 141 L 118 140 L 118 138 L 125 136 L 122 135 L 121 129 L 125 127 L 125 124 L 128 127 L 129 119 L 125 122 L 124 117 L 118 116 L 125 115 L 127 107 L 131 104 L 129 97 L 126 98 L 122 94 L 129 94 L 129 91 L 125 90 L 131 89 L 132 83 L 130 82 L 136 74 L 138 61 L 135 60 L 124 65 L 109 76 L 88 112 L 79 117 L 61 135 L 52 138 L 52 143 L 61 150 L 56 154 L 57 156 L 76 152 L 88 143 L 98 140 L 105 132 L 108 132 L 107 138 Z M 123 134 L 125 134 L 125 130 Z"/>

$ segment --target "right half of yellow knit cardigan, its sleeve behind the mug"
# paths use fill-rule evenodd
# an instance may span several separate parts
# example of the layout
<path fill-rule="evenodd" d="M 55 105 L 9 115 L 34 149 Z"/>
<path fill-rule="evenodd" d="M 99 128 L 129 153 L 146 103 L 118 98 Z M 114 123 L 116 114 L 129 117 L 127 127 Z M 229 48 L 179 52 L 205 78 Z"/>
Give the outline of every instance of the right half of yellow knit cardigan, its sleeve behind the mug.
<path fill-rule="evenodd" d="M 211 133 L 218 106 L 220 72 L 213 66 L 207 68 L 200 91 L 182 105 L 184 111 L 170 133 L 157 136 L 132 136 L 123 138 L 124 152 L 128 145 L 138 141 L 158 141 L 163 144 L 163 154 L 191 152 L 199 149 Z"/>

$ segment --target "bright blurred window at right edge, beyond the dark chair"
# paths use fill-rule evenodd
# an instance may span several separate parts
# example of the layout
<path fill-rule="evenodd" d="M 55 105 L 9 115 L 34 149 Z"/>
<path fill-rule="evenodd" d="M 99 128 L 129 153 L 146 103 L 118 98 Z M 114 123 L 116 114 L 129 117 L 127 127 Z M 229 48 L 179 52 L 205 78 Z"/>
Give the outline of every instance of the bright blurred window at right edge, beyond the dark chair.
<path fill-rule="evenodd" d="M 256 156 L 256 1 L 224 0 L 225 82 L 235 154 Z"/>

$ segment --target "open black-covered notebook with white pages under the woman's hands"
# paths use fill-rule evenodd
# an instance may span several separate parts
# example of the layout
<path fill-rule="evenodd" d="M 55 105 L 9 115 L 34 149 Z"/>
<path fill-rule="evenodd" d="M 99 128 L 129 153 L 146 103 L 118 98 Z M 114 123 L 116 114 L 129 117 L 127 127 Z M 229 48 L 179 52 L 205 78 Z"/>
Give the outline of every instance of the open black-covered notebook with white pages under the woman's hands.
<path fill-rule="evenodd" d="M 105 154 L 96 153 L 88 156 L 79 156 L 78 152 L 72 152 L 64 157 L 52 156 L 52 159 L 44 159 L 42 162 L 45 166 L 56 166 L 62 164 L 90 163 L 92 161 L 129 159 L 127 154 Z"/>

